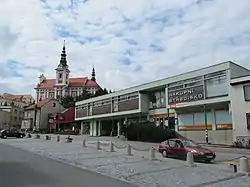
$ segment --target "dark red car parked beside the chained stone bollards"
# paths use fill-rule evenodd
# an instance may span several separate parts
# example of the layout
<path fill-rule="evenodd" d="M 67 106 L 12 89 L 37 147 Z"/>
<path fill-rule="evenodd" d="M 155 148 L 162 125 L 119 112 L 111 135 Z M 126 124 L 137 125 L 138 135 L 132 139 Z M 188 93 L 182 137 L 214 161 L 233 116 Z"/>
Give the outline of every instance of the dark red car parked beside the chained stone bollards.
<path fill-rule="evenodd" d="M 159 152 L 163 157 L 177 157 L 186 159 L 187 152 L 192 152 L 195 161 L 211 162 L 215 159 L 215 152 L 202 147 L 191 140 L 169 139 L 159 145 Z"/>

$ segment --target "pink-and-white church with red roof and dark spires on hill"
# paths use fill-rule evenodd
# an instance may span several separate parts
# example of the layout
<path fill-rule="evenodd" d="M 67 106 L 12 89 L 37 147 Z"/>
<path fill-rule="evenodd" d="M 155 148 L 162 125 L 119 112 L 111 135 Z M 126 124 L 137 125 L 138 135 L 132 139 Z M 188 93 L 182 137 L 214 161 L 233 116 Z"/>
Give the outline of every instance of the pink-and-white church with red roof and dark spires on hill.
<path fill-rule="evenodd" d="M 100 89 L 96 81 L 94 67 L 92 69 L 91 79 L 88 77 L 70 78 L 70 70 L 66 56 L 64 43 L 60 63 L 55 69 L 56 78 L 47 79 L 44 74 L 39 77 L 39 83 L 35 88 L 37 101 L 66 95 L 76 97 L 81 95 L 84 90 L 95 94 L 95 92 Z"/>

